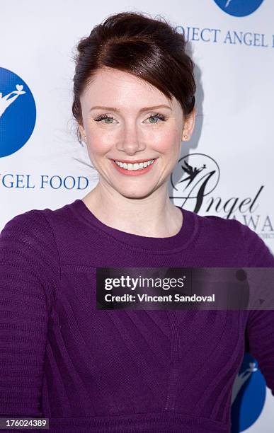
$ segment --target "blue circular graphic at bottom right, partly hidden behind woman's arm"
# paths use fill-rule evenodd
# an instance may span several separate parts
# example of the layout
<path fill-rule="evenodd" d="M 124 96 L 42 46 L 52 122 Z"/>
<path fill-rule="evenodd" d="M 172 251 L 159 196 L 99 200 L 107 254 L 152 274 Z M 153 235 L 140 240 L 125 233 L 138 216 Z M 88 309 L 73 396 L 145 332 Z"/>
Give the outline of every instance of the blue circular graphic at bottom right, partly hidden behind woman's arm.
<path fill-rule="evenodd" d="M 249 353 L 236 376 L 232 391 L 232 433 L 243 432 L 261 415 L 266 401 L 266 381 Z"/>

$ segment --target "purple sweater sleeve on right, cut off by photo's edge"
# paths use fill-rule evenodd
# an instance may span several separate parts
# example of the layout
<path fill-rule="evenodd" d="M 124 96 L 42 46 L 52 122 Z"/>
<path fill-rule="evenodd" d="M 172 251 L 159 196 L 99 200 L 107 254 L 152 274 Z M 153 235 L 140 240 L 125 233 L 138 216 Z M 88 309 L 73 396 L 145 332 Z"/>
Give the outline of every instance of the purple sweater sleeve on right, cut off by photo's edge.
<path fill-rule="evenodd" d="M 274 267 L 274 256 L 255 231 L 244 226 L 247 267 Z M 274 290 L 274 285 L 273 285 Z M 258 361 L 274 396 L 274 310 L 250 310 L 246 325 L 248 352 Z"/>

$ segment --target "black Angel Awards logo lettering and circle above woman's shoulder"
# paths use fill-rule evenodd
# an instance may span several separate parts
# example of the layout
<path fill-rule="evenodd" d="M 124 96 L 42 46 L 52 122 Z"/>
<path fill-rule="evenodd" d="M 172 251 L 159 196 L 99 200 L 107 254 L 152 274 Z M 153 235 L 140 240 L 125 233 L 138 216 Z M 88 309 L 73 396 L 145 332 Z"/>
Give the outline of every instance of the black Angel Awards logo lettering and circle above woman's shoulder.
<path fill-rule="evenodd" d="M 215 159 L 205 154 L 187 154 L 178 161 L 171 173 L 173 195 L 169 198 L 176 199 L 178 206 L 196 214 L 238 219 L 258 232 L 261 238 L 273 239 L 273 221 L 269 215 L 261 215 L 257 210 L 265 185 L 258 185 L 250 197 L 222 197 L 216 195 L 219 178 L 220 169 Z"/>

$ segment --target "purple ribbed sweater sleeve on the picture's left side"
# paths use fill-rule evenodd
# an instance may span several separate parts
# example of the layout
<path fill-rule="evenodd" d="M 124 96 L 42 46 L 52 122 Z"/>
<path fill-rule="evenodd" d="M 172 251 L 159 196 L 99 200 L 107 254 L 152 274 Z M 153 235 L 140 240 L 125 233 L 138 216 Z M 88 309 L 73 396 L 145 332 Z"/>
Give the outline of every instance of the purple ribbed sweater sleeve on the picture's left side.
<path fill-rule="evenodd" d="M 0 416 L 41 417 L 47 322 L 59 255 L 43 211 L 13 217 L 0 233 Z"/>

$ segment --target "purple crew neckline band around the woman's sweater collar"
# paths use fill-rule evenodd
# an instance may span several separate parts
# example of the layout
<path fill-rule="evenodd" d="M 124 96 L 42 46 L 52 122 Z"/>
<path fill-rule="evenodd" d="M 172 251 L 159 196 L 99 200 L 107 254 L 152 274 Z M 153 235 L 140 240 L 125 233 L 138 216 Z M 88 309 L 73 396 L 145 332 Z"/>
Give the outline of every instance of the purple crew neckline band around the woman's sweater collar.
<path fill-rule="evenodd" d="M 102 233 L 106 233 L 120 243 L 126 243 L 131 248 L 137 248 L 142 250 L 165 250 L 165 251 L 176 251 L 183 250 L 186 248 L 195 238 L 198 233 L 198 217 L 195 212 L 188 211 L 181 207 L 183 214 L 183 224 L 180 231 L 176 235 L 169 236 L 168 238 L 154 238 L 151 236 L 139 236 L 133 233 L 127 233 L 114 229 L 102 221 L 100 221 L 86 206 L 81 199 L 76 199 L 72 204 L 76 208 L 76 213 L 81 214 L 86 221 L 89 222 L 93 227 L 99 229 Z"/>

